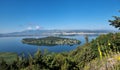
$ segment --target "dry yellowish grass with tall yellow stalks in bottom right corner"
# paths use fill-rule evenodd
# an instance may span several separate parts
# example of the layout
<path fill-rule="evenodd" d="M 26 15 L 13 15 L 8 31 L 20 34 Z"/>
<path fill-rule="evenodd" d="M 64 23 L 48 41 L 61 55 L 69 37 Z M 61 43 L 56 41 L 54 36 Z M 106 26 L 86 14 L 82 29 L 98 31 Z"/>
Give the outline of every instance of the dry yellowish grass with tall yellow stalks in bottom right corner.
<path fill-rule="evenodd" d="M 108 43 L 107 47 L 110 45 Z M 99 57 L 86 64 L 84 70 L 120 70 L 120 52 L 115 49 L 115 51 L 113 49 L 101 51 L 102 47 L 106 46 L 99 45 L 98 43 Z"/>

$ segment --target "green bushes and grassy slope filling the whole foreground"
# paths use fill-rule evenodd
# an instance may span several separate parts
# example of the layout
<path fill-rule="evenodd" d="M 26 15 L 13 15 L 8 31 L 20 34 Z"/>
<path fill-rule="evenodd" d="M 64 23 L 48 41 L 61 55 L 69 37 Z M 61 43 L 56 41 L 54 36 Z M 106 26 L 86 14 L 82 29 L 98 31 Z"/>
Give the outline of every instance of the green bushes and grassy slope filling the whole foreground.
<path fill-rule="evenodd" d="M 68 53 L 16 57 L 0 62 L 0 70 L 120 70 L 120 33 L 100 35 Z"/>

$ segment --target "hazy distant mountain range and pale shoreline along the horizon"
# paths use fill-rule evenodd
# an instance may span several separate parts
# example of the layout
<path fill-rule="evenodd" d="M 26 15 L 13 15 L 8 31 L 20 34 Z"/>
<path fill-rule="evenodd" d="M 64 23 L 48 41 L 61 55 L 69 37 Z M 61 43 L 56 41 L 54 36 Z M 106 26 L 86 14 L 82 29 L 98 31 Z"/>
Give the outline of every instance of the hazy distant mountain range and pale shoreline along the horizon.
<path fill-rule="evenodd" d="M 0 37 L 101 34 L 101 33 L 109 33 L 109 32 L 114 32 L 114 31 L 113 30 L 25 30 L 22 32 L 0 34 Z"/>

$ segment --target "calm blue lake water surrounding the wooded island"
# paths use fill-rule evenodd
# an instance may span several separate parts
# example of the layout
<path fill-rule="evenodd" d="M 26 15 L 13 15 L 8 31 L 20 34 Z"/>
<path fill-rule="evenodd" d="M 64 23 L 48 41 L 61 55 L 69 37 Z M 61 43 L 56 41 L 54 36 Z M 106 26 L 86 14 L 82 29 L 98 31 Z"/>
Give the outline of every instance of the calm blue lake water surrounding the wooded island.
<path fill-rule="evenodd" d="M 63 36 L 66 38 L 74 38 L 80 40 L 83 45 L 85 43 L 84 36 Z M 95 39 L 97 36 L 89 36 L 89 40 Z M 49 52 L 68 52 L 74 50 L 78 47 L 78 45 L 68 46 L 68 45 L 57 45 L 57 46 L 36 46 L 36 45 L 28 45 L 23 44 L 21 40 L 23 38 L 31 38 L 31 37 L 0 37 L 0 52 L 15 52 L 18 55 L 24 53 L 27 55 L 28 53 L 34 54 L 38 49 L 42 52 L 46 49 Z M 42 37 L 32 37 L 32 38 L 42 38 Z"/>

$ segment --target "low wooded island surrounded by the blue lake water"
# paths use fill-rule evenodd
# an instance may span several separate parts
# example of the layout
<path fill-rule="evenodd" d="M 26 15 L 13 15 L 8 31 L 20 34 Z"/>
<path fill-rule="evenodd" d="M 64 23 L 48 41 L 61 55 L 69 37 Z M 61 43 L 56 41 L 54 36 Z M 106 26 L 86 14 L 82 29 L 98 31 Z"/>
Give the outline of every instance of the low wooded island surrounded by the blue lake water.
<path fill-rule="evenodd" d="M 25 38 L 22 40 L 25 44 L 39 45 L 39 46 L 55 46 L 55 45 L 75 45 L 81 42 L 76 39 L 61 38 L 61 37 L 45 37 L 45 38 Z"/>

